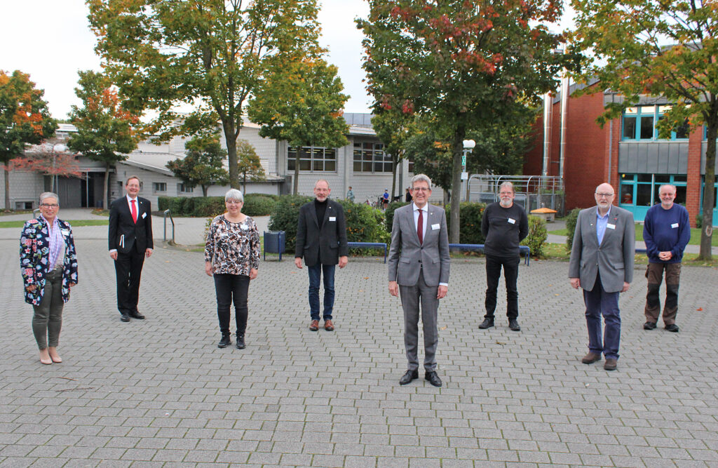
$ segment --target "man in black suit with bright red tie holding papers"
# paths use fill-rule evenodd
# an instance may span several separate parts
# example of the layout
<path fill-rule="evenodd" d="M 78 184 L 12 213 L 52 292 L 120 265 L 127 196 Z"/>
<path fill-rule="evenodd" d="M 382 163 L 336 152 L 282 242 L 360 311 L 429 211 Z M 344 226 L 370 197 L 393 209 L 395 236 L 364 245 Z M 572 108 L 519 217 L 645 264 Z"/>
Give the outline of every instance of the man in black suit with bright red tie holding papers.
<path fill-rule="evenodd" d="M 126 196 L 113 201 L 110 207 L 109 248 L 115 261 L 117 277 L 117 308 L 120 320 L 139 320 L 137 310 L 139 280 L 144 258 L 152 254 L 152 214 L 149 200 L 137 196 L 139 178 L 131 176 L 125 183 Z"/>

